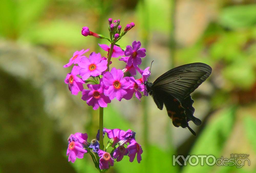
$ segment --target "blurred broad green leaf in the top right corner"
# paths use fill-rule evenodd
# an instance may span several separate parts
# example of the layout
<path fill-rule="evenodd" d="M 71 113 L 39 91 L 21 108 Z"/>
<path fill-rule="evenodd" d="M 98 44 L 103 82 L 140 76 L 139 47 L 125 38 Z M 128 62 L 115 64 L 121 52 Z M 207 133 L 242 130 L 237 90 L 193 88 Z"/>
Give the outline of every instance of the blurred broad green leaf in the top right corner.
<path fill-rule="evenodd" d="M 226 7 L 220 14 L 219 22 L 231 29 L 254 27 L 256 24 L 255 9 L 255 4 Z"/>

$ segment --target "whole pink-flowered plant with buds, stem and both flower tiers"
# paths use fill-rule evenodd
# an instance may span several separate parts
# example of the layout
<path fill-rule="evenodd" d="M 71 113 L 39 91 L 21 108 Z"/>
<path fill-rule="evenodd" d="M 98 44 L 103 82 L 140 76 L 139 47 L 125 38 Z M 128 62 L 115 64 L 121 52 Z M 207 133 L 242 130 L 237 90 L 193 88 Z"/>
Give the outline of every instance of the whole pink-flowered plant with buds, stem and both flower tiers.
<path fill-rule="evenodd" d="M 110 38 L 94 33 L 88 27 L 83 27 L 81 31 L 83 36 L 94 36 L 110 42 L 110 44 L 99 44 L 106 51 L 106 54 L 102 56 L 100 53 L 91 52 L 88 57 L 85 53 L 89 49 L 83 49 L 74 52 L 69 62 L 63 66 L 74 65 L 65 79 L 71 94 L 77 95 L 81 92 L 81 99 L 86 101 L 87 105 L 92 106 L 93 110 L 100 110 L 99 131 L 96 139 L 92 139 L 89 143 L 86 133 L 70 135 L 67 155 L 69 156 L 68 161 L 72 163 L 75 162 L 76 158 L 83 158 L 84 154 L 87 153 L 91 155 L 95 167 L 101 172 L 113 166 L 114 159 L 120 162 L 123 157 L 130 157 L 130 162 L 133 162 L 137 156 L 138 163 L 142 160 L 143 151 L 141 145 L 135 141 L 135 132 L 103 128 L 103 108 L 107 107 L 111 100 L 121 101 L 123 98 L 130 100 L 134 95 L 140 100 L 142 93 L 147 95 L 144 81 L 150 75 L 149 67 L 145 70 L 139 68 L 142 63 L 141 58 L 146 56 L 146 49 L 141 48 L 140 41 L 134 41 L 131 46 L 127 45 L 126 47 L 117 44 L 134 26 L 135 24 L 131 22 L 121 31 L 120 20 L 112 21 L 109 18 Z M 111 68 L 111 58 L 119 58 L 120 61 L 123 61 L 125 63 L 123 69 Z M 124 75 L 124 73 L 127 74 Z M 141 76 L 138 79 L 134 76 L 137 73 Z M 110 140 L 104 145 L 105 133 Z"/>

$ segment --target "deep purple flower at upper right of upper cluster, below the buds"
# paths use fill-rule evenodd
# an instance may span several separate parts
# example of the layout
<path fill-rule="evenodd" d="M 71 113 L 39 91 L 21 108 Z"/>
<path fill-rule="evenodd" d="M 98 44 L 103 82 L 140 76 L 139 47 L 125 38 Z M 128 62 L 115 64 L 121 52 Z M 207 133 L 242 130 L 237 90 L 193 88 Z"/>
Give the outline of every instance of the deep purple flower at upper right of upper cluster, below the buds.
<path fill-rule="evenodd" d="M 134 41 L 132 43 L 132 47 L 130 45 L 126 46 L 126 50 L 124 51 L 125 56 L 129 56 L 127 59 L 127 65 L 131 66 L 137 66 L 141 64 L 141 58 L 146 56 L 146 49 L 141 48 L 141 42 Z"/>

